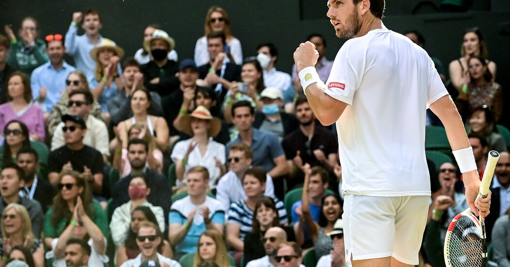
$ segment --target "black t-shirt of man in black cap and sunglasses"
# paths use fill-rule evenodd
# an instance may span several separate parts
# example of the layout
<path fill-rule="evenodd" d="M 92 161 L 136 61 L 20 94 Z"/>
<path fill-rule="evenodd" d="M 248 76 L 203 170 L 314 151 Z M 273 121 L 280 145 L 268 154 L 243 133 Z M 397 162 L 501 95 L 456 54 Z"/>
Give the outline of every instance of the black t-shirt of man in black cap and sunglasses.
<path fill-rule="evenodd" d="M 59 147 L 48 154 L 48 173 L 62 171 L 62 166 L 71 162 L 72 169 L 83 172 L 84 166 L 90 169 L 92 174 L 103 173 L 103 155 L 93 147 L 85 145 L 80 150 L 70 150 L 67 146 Z"/>

